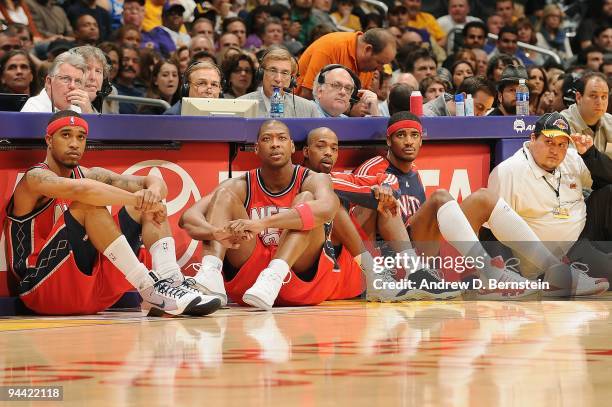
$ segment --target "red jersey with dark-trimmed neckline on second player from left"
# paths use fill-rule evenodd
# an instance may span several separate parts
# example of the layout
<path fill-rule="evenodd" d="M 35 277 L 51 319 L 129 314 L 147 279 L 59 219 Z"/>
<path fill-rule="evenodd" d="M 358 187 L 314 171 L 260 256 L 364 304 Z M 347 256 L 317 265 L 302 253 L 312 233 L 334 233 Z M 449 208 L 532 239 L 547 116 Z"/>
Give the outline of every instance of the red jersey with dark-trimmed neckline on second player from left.
<path fill-rule="evenodd" d="M 249 171 L 246 174 L 247 195 L 244 203 L 249 218 L 263 219 L 289 210 L 296 195 L 302 192 L 302 184 L 309 172 L 300 165 L 294 165 L 289 185 L 274 193 L 266 188 L 259 168 Z M 259 239 L 264 246 L 278 246 L 281 232 L 278 228 L 267 228 L 259 233 Z"/>

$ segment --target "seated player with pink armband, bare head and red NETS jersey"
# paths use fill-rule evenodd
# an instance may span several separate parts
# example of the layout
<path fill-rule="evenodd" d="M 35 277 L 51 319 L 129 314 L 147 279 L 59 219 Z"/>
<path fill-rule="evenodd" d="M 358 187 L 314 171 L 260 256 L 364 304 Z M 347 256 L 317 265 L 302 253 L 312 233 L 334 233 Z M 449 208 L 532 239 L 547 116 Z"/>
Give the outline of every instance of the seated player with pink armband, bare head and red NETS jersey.
<path fill-rule="evenodd" d="M 339 273 L 328 222 L 338 198 L 327 175 L 291 162 L 294 152 L 287 126 L 264 122 L 255 144 L 261 167 L 226 180 L 183 214 L 181 227 L 204 245 L 199 289 L 264 309 L 314 305 L 333 292 Z"/>

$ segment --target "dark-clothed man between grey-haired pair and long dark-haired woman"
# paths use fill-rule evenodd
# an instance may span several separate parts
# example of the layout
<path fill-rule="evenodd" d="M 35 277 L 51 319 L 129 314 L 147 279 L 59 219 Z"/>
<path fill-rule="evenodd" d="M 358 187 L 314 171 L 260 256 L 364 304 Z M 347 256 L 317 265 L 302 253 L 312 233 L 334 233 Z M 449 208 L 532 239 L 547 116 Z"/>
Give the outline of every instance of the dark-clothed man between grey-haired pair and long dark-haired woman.
<path fill-rule="evenodd" d="M 144 96 L 144 87 L 140 81 L 141 61 L 138 49 L 130 45 L 121 48 L 121 65 L 114 83 L 119 95 Z M 119 113 L 136 114 L 137 106 L 133 103 L 120 103 Z"/>

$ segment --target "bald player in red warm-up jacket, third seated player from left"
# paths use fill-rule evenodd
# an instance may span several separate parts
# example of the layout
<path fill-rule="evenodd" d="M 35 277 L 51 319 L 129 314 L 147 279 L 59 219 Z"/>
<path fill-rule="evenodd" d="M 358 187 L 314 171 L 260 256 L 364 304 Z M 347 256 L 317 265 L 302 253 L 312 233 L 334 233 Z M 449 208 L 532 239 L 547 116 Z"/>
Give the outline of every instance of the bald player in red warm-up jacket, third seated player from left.
<path fill-rule="evenodd" d="M 354 263 L 361 266 L 367 282 L 366 299 L 368 301 L 450 299 L 461 295 L 461 290 L 437 288 L 434 284 L 421 284 L 423 280 L 429 283 L 441 280 L 436 270 L 427 267 L 404 270 L 408 274 L 407 279 L 415 283 L 414 289 L 377 287 L 376 279 L 382 278 L 384 281 L 390 281 L 389 279 L 393 278 L 396 270 L 385 269 L 380 273 L 374 272 L 374 259 L 364 244 L 364 240 L 371 239 L 372 233 L 367 233 L 363 230 L 364 227 L 373 229 L 373 234 L 378 233 L 394 253 L 400 256 L 403 256 L 404 253 L 409 257 L 416 256 L 399 213 L 399 205 L 395 196 L 399 194 L 397 178 L 388 173 L 379 173 L 374 176 L 333 172 L 334 165 L 338 161 L 338 137 L 327 127 L 316 128 L 308 133 L 303 152 L 305 167 L 331 175 L 334 191 L 342 203 L 333 223 L 334 252 L 341 268 L 350 270 L 355 267 Z M 368 219 L 373 221 L 367 225 L 356 224 L 356 219 L 349 215 L 347 210 L 369 213 Z M 349 253 L 351 256 L 348 256 Z M 347 287 L 355 287 L 362 280 L 361 275 L 345 274 L 352 275 L 357 280 L 347 281 L 345 283 Z M 342 299 L 342 297 L 330 299 Z"/>

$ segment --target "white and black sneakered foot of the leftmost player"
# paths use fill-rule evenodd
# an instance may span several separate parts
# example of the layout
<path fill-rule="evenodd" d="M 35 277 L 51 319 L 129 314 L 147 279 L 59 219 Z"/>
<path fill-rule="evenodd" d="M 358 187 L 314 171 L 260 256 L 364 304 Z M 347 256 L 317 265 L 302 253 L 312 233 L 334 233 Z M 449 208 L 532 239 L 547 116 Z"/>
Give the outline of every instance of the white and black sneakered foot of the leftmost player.
<path fill-rule="evenodd" d="M 142 296 L 143 308 L 148 308 L 151 316 L 161 316 L 164 313 L 200 316 L 210 314 L 221 306 L 217 298 L 201 304 L 201 296 L 194 291 L 173 287 L 172 280 L 159 280 L 154 277 L 153 273 L 149 275 L 157 281 L 139 292 Z"/>

